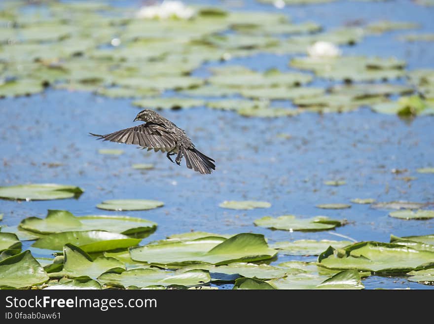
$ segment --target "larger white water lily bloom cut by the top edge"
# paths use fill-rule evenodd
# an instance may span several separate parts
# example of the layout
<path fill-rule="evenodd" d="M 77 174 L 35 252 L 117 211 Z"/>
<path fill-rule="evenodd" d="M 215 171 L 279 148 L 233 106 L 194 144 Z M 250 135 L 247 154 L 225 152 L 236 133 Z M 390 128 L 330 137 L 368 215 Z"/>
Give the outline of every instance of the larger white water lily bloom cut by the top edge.
<path fill-rule="evenodd" d="M 136 14 L 137 18 L 168 19 L 172 17 L 189 19 L 194 15 L 193 8 L 187 7 L 181 1 L 163 1 L 161 4 L 142 7 Z"/>

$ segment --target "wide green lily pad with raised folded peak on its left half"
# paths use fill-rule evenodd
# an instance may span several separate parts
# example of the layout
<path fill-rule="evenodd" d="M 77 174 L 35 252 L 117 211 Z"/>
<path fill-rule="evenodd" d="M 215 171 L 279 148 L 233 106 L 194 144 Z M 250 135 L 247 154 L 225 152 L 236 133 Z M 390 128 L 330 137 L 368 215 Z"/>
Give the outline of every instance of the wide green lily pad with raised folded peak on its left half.
<path fill-rule="evenodd" d="M 130 216 L 89 215 L 76 217 L 68 211 L 48 210 L 44 219 L 28 217 L 19 227 L 36 234 L 52 234 L 69 231 L 102 230 L 124 235 L 155 230 L 157 224 Z"/>

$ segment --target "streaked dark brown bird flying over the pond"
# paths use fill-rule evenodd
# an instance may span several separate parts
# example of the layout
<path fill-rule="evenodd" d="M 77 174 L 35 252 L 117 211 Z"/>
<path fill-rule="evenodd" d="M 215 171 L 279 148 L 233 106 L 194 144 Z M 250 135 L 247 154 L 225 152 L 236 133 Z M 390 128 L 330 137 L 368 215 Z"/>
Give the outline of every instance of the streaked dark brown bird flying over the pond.
<path fill-rule="evenodd" d="M 175 162 L 171 156 L 177 154 L 175 161 L 178 165 L 181 165 L 184 157 L 187 168 L 200 174 L 211 174 L 216 170 L 215 160 L 198 151 L 184 130 L 156 111 L 144 109 L 134 121 L 145 123 L 106 135 L 89 134 L 98 137 L 98 140 L 135 144 L 143 149 L 167 152 L 166 156 L 172 163 Z"/>

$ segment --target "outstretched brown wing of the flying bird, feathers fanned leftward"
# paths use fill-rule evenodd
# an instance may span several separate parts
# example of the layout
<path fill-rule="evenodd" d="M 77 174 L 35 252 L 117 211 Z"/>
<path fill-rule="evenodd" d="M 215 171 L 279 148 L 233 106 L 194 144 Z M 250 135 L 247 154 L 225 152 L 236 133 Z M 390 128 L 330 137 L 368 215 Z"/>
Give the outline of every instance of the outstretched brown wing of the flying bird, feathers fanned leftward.
<path fill-rule="evenodd" d="M 106 135 L 89 134 L 104 141 L 135 144 L 161 151 L 170 151 L 176 147 L 173 134 L 167 132 L 166 128 L 159 124 L 146 123 Z"/>

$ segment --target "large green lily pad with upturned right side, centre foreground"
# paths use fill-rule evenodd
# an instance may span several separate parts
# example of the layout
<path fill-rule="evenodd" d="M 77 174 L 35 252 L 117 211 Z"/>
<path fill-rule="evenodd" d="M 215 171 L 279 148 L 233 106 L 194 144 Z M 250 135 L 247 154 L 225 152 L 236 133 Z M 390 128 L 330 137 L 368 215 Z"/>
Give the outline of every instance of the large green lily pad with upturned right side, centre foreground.
<path fill-rule="evenodd" d="M 159 266 L 184 266 L 192 263 L 224 265 L 270 259 L 277 251 L 268 248 L 264 236 L 241 233 L 229 239 L 204 237 L 186 242 L 146 245 L 131 248 L 133 260 Z"/>

